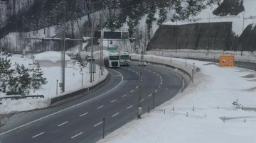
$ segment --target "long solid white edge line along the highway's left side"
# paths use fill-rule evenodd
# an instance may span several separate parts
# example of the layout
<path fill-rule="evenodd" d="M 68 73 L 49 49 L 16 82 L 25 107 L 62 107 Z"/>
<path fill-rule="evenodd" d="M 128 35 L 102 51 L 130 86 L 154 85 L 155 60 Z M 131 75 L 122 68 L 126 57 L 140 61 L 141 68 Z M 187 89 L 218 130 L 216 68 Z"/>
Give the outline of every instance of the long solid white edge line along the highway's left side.
<path fill-rule="evenodd" d="M 110 69 L 110 70 L 115 71 L 114 69 Z M 119 73 L 119 74 L 122 76 L 122 74 L 121 74 L 119 71 L 116 71 L 116 72 Z M 43 120 L 43 119 L 45 119 L 45 118 L 48 118 L 48 117 L 50 117 L 50 116 L 52 116 L 52 115 L 55 115 L 55 114 L 58 114 L 58 113 L 62 113 L 62 112 L 65 111 L 65 110 L 68 110 L 68 109 L 70 109 L 70 108 L 74 108 L 74 107 L 76 107 L 76 106 L 78 106 L 78 105 L 82 105 L 83 103 L 87 103 L 87 102 L 92 101 L 92 100 L 94 100 L 94 99 L 96 99 L 96 98 L 100 98 L 101 96 L 104 96 L 105 94 L 107 94 L 107 93 L 113 91 L 115 88 L 117 88 L 120 84 L 122 84 L 122 81 L 124 81 L 124 76 L 122 76 L 122 80 L 119 82 L 119 84 L 117 84 L 117 86 L 114 86 L 114 88 L 110 89 L 110 91 L 107 91 L 107 92 L 105 92 L 105 93 L 102 93 L 100 96 L 96 96 L 95 98 L 91 98 L 91 99 L 89 99 L 89 100 L 87 100 L 87 101 L 83 101 L 83 102 L 81 102 L 81 103 L 78 103 L 78 104 L 76 104 L 76 105 L 72 105 L 72 106 L 70 106 L 70 107 L 68 107 L 68 108 L 65 108 L 65 109 L 63 109 L 63 110 L 59 110 L 59 111 L 57 111 L 57 112 L 55 112 L 55 113 L 51 113 L 50 115 L 46 115 L 46 116 L 44 116 L 43 118 L 39 118 L 39 119 L 37 119 L 37 120 L 33 120 L 33 121 L 28 122 L 28 123 L 26 123 L 26 124 L 23 124 L 23 125 L 21 125 L 21 126 L 15 127 L 14 129 L 8 130 L 8 131 L 6 131 L 6 132 L 2 132 L 2 133 L 0 133 L 0 136 L 6 134 L 6 133 L 8 133 L 8 132 L 17 130 L 17 129 L 21 128 L 21 127 L 25 127 L 25 126 L 27 126 L 27 125 L 30 125 L 30 124 L 32 124 L 32 123 L 34 123 L 34 122 L 38 122 L 39 120 Z"/>

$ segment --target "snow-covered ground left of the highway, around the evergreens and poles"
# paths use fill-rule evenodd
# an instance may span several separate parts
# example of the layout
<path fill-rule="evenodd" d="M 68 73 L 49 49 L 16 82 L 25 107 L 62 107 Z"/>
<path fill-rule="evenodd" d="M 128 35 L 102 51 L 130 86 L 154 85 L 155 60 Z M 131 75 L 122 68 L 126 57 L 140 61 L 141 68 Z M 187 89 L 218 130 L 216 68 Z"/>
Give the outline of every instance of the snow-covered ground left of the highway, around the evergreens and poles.
<path fill-rule="evenodd" d="M 60 59 L 60 53 L 52 57 L 50 57 L 48 53 L 49 52 L 43 53 L 43 55 L 46 55 L 44 56 L 46 60 L 51 60 L 50 58 L 52 58 L 51 61 L 55 61 L 56 58 Z M 12 57 L 9 57 L 9 59 L 11 59 L 12 64 L 16 62 L 18 64 L 23 64 L 28 69 L 32 69 L 32 65 L 29 65 L 29 64 L 33 63 L 33 59 L 31 59 L 30 57 L 22 58 L 21 55 L 13 55 Z M 100 81 L 104 80 L 108 74 L 108 71 L 105 69 L 103 70 L 103 75 L 100 76 L 99 75 L 100 67 L 97 65 L 96 73 L 93 76 L 94 81 L 90 83 L 89 66 L 80 67 L 79 64 L 77 63 L 74 64 L 73 60 L 71 60 L 70 62 L 68 62 L 68 67 L 65 68 L 65 92 L 60 93 L 60 87 L 58 83 L 60 83 L 61 81 L 61 71 L 62 71 L 61 67 L 41 67 L 41 69 L 44 74 L 43 77 L 46 77 L 48 83 L 45 85 L 42 85 L 42 87 L 36 91 L 33 91 L 33 89 L 31 89 L 29 95 L 43 95 L 44 98 L 2 100 L 0 101 L 2 103 L 0 105 L 0 115 L 8 114 L 8 113 L 16 113 L 24 110 L 46 108 L 48 107 L 48 105 L 50 105 L 51 98 L 54 98 L 56 96 L 61 96 L 65 93 L 78 91 L 81 88 L 87 88 L 95 84 L 98 84 Z M 5 97 L 5 96 L 6 96 L 5 93 L 0 92 L 0 97 Z"/>

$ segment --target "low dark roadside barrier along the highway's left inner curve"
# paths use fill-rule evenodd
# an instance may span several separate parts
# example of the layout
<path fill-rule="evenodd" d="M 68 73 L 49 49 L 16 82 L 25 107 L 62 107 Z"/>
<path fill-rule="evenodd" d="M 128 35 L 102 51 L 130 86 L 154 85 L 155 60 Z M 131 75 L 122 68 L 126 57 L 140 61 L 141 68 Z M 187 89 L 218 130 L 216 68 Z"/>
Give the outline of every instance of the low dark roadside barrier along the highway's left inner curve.
<path fill-rule="evenodd" d="M 72 100 L 73 98 L 79 98 L 81 96 L 86 96 L 88 93 L 91 93 L 95 89 L 103 86 L 107 81 L 110 80 L 110 74 L 107 74 L 107 78 L 100 82 L 100 84 L 96 84 L 95 86 L 91 86 L 90 88 L 82 88 L 79 91 L 75 91 L 73 93 L 67 93 L 63 96 L 58 96 L 55 98 L 50 99 L 50 105 L 53 105 L 54 103 L 58 103 L 58 101 L 63 101 L 65 99 Z"/>

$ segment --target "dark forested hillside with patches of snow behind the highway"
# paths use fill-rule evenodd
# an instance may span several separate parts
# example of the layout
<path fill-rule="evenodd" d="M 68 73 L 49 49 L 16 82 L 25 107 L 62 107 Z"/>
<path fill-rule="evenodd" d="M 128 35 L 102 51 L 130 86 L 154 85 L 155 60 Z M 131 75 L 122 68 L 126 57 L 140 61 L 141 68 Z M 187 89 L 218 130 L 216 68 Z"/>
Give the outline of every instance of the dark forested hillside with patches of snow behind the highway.
<path fill-rule="evenodd" d="M 129 34 L 134 33 L 142 16 L 146 16 L 146 38 L 149 41 L 154 33 L 151 32 L 153 23 L 161 25 L 166 21 L 184 21 L 190 16 L 196 16 L 203 9 L 218 4 L 213 11 L 216 16 L 236 15 L 243 11 L 242 0 L 0 0 L 0 38 L 11 32 L 24 33 L 61 25 L 64 21 L 71 21 L 70 29 L 66 31 L 69 38 L 78 34 L 87 36 L 85 30 L 75 33 L 80 18 L 90 20 L 91 13 L 104 10 L 104 27 L 115 30 L 126 23 Z M 227 8 L 228 7 L 228 8 Z M 230 8 L 232 7 L 232 8 Z M 158 13 L 159 16 L 155 16 Z M 82 21 L 80 27 L 90 28 L 91 21 Z M 99 22 L 99 21 L 97 21 Z M 99 28 L 99 26 L 97 26 Z M 61 32 L 61 31 L 60 31 Z M 46 35 L 46 30 L 44 30 Z M 56 33 L 58 35 L 58 33 Z M 22 39 L 22 34 L 19 39 Z"/>

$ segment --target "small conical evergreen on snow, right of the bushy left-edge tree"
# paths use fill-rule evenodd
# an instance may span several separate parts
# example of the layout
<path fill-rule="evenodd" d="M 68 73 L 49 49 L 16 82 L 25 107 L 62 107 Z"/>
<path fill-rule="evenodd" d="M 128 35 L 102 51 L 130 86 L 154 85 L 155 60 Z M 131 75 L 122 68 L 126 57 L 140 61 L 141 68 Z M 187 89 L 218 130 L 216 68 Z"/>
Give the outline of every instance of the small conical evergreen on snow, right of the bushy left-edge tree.
<path fill-rule="evenodd" d="M 43 71 L 40 68 L 39 62 L 36 63 L 36 70 L 35 70 L 35 79 L 33 83 L 33 88 L 38 89 L 41 87 L 42 84 L 47 84 L 48 81 L 46 81 L 46 78 L 43 78 Z"/>

